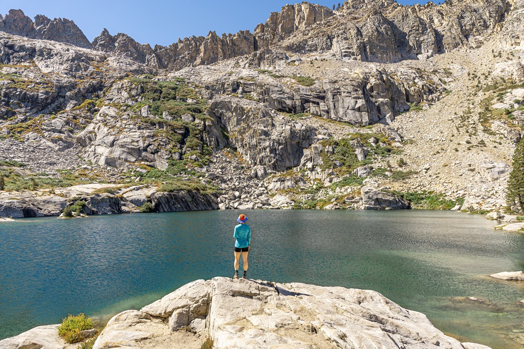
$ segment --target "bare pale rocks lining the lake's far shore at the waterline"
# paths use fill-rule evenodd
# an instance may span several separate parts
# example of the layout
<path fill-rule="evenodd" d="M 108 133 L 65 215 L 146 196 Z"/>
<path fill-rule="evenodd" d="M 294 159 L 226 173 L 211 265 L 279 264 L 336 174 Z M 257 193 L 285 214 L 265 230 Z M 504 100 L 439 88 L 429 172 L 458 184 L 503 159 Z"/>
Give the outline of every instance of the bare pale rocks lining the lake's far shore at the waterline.
<path fill-rule="evenodd" d="M 224 180 L 220 171 L 221 180 Z M 219 175 L 209 172 L 206 178 L 217 179 Z M 241 180 L 241 179 L 237 179 Z M 236 184 L 236 185 L 235 185 Z M 141 212 L 178 212 L 204 210 L 253 210 L 293 209 L 294 202 L 285 194 L 270 195 L 263 186 L 251 187 L 247 183 L 233 182 L 233 188 L 222 184 L 223 194 L 202 194 L 199 191 L 178 190 L 161 192 L 160 186 L 138 184 L 82 184 L 68 188 L 42 189 L 36 191 L 0 192 L 0 217 L 27 218 L 60 216 L 66 206 L 77 216 L 98 214 L 121 214 Z M 238 189 L 236 189 L 238 188 Z M 228 190 L 226 192 L 226 190 Z M 242 191 L 242 192 L 241 192 Z M 364 187 L 360 197 L 346 197 L 344 209 L 397 210 L 411 208 L 410 202 L 397 195 L 371 187 Z M 144 205 L 149 205 L 144 211 Z M 141 210 L 142 208 L 142 210 Z M 326 210 L 341 209 L 333 203 Z"/>

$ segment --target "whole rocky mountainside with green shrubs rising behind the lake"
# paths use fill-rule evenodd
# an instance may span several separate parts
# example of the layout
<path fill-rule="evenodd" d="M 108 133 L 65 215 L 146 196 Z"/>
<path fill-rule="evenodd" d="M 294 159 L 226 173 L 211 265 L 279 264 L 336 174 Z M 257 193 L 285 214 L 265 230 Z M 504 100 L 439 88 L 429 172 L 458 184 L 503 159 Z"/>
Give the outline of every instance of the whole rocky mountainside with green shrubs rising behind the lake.
<path fill-rule="evenodd" d="M 12 10 L 0 215 L 81 208 L 91 192 L 56 188 L 97 183 L 113 212 L 178 204 L 149 191 L 211 195 L 202 209 L 499 210 L 524 135 L 523 4 L 304 2 L 253 33 L 155 48 Z"/>

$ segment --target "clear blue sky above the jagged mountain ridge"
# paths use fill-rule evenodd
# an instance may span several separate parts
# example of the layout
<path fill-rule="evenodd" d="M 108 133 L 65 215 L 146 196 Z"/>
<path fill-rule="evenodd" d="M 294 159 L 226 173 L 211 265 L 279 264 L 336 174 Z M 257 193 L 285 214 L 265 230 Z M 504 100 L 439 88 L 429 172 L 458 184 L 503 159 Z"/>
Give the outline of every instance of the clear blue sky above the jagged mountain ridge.
<path fill-rule="evenodd" d="M 34 18 L 63 17 L 74 21 L 90 41 L 105 27 L 112 35 L 124 32 L 140 43 L 170 45 L 178 38 L 206 36 L 239 30 L 253 32 L 258 23 L 265 23 L 271 12 L 278 12 L 289 0 L 0 0 L 0 13 L 21 9 Z M 340 1 L 340 0 L 339 0 Z M 330 8 L 339 1 L 310 1 Z M 290 4 L 301 0 L 290 1 Z M 341 1 L 342 2 L 342 1 Z M 398 0 L 404 5 L 426 3 L 427 0 Z"/>

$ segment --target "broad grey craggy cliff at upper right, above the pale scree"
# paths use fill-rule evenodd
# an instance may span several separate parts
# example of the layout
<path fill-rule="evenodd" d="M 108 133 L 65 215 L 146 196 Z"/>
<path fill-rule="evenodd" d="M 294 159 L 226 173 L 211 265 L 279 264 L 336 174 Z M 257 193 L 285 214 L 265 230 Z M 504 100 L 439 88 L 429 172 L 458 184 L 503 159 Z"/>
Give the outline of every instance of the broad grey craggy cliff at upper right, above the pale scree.
<path fill-rule="evenodd" d="M 505 0 L 402 6 L 350 0 L 337 16 L 282 43 L 289 50 L 331 51 L 337 59 L 398 62 L 477 48 L 503 20 Z"/>

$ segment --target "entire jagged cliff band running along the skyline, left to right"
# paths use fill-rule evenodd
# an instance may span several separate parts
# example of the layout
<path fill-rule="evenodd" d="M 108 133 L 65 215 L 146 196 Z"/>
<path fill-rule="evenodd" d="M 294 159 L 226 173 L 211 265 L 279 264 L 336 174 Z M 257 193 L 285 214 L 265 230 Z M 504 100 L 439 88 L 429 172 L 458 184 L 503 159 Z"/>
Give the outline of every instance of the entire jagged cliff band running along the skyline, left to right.
<path fill-rule="evenodd" d="M 156 69 L 179 70 L 244 56 L 274 46 L 301 53 L 330 52 L 339 60 L 398 62 L 427 59 L 453 49 L 481 46 L 504 19 L 505 0 L 466 0 L 435 5 L 402 6 L 392 0 L 351 0 L 336 12 L 307 2 L 282 7 L 272 13 L 254 34 L 191 37 L 169 47 L 140 44 L 126 34 L 115 36 L 104 29 L 93 43 L 70 20 L 37 16 L 35 23 L 21 10 L 11 10 L 0 20 L 0 30 L 36 39 L 93 47 Z M 515 7 L 521 6 L 516 2 Z M 513 13 L 519 18 L 518 10 Z M 510 30 L 509 45 L 520 45 Z M 298 35 L 294 35 L 300 32 Z M 508 42 L 509 42 L 508 41 Z"/>

